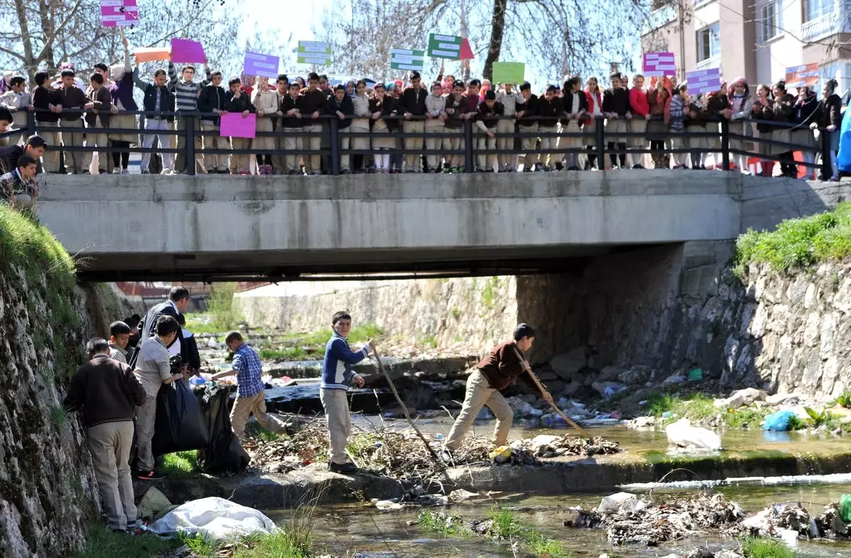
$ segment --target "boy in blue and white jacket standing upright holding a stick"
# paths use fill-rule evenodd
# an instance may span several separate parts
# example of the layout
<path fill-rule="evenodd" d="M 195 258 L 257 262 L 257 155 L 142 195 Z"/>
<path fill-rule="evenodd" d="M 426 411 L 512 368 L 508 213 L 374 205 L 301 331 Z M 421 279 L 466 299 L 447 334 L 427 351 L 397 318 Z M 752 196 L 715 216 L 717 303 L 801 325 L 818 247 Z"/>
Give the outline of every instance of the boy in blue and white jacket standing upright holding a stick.
<path fill-rule="evenodd" d="M 367 341 L 366 345 L 357 352 L 352 352 L 346 338 L 351 330 L 351 316 L 346 312 L 338 312 L 331 318 L 331 328 L 334 335 L 325 346 L 325 360 L 322 368 L 322 385 L 319 387 L 319 400 L 325 409 L 325 420 L 328 421 L 328 469 L 337 473 L 356 471 L 357 467 L 346 459 L 346 440 L 351 434 L 351 416 L 346 392 L 352 381 L 358 387 L 363 387 L 363 378 L 351 369 L 352 364 L 367 358 L 370 349 L 374 349 L 375 341 Z"/>

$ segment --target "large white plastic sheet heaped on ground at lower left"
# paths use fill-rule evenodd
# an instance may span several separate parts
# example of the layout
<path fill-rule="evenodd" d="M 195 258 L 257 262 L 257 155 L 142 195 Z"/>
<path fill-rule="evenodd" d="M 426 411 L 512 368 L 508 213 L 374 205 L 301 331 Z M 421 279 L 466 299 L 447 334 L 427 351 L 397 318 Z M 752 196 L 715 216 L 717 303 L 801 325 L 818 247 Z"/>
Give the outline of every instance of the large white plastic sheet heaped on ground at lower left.
<path fill-rule="evenodd" d="M 149 528 L 158 535 L 201 533 L 216 540 L 277 531 L 271 519 L 260 511 L 216 497 L 191 500 L 179 505 Z"/>

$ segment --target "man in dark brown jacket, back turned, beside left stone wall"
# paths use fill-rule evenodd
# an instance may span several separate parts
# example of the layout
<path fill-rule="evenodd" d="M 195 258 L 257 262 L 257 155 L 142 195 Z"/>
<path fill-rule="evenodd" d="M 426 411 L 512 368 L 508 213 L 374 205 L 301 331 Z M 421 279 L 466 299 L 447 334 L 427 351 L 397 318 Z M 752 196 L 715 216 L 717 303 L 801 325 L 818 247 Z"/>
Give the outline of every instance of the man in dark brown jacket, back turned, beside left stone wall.
<path fill-rule="evenodd" d="M 145 388 L 127 364 L 109 358 L 106 340 L 92 339 L 86 350 L 91 360 L 71 376 L 63 405 L 83 411 L 107 526 L 134 529 L 138 521 L 129 458 L 133 419 L 136 407 L 145 403 Z"/>

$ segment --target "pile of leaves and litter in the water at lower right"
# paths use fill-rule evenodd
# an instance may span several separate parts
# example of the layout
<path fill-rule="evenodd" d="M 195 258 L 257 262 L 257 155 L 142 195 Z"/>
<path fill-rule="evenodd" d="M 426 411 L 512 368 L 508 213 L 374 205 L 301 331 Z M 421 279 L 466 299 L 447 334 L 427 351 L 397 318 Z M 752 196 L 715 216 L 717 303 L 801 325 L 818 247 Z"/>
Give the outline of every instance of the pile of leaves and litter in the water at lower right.
<path fill-rule="evenodd" d="M 603 499 L 597 510 L 574 508 L 578 515 L 565 521 L 568 527 L 606 529 L 611 544 L 637 543 L 658 546 L 707 530 L 726 533 L 745 517 L 739 504 L 723 494 L 697 495 L 656 504 L 635 494 L 618 493 Z"/>

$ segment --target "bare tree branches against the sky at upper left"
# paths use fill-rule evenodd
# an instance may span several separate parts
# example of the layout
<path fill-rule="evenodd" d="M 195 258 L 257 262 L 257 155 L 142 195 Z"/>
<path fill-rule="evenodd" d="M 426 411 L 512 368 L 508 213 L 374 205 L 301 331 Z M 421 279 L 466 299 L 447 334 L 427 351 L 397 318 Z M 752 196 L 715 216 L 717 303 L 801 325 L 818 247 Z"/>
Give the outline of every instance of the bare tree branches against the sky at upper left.
<path fill-rule="evenodd" d="M 221 17 L 220 0 L 162 0 L 140 5 L 140 22 L 127 29 L 134 46 L 165 46 L 172 37 L 203 43 L 211 63 L 238 58 L 237 18 Z M 100 21 L 98 0 L 0 0 L 0 68 L 29 76 L 56 70 L 64 60 L 80 70 L 122 57 L 115 27 Z"/>

